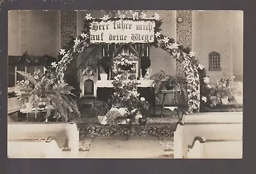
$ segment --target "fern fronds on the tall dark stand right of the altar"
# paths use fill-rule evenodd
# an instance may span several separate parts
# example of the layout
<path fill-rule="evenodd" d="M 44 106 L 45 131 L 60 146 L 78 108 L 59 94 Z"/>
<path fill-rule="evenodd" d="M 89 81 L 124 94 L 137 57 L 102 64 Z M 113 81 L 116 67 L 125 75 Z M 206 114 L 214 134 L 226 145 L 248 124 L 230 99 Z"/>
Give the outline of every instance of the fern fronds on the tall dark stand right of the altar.
<path fill-rule="evenodd" d="M 183 77 L 168 75 L 160 70 L 159 73 L 152 75 L 150 79 L 154 81 L 154 91 L 157 98 L 160 97 L 161 90 L 180 90 L 182 97 L 187 92 L 187 81 Z"/>

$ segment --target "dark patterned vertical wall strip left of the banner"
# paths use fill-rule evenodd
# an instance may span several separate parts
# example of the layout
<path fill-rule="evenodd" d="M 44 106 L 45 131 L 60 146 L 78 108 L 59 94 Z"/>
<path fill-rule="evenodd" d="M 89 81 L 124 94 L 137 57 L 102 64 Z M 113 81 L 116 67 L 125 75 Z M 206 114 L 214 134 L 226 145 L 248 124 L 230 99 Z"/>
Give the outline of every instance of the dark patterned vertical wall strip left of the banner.
<path fill-rule="evenodd" d="M 61 47 L 77 35 L 77 12 L 61 11 Z"/>

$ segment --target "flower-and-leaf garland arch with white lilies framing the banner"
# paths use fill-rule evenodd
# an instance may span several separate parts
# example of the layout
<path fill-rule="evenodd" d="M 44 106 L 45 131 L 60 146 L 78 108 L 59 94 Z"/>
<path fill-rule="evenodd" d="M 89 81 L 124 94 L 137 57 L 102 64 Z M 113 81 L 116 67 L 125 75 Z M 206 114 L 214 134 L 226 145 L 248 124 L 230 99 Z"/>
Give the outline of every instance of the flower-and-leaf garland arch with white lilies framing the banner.
<path fill-rule="evenodd" d="M 209 77 L 205 73 L 205 68 L 200 65 L 195 58 L 195 52 L 191 51 L 188 47 L 184 47 L 176 43 L 173 38 L 168 38 L 160 33 L 162 21 L 159 20 L 159 15 L 155 13 L 152 18 L 147 18 L 145 13 L 138 14 L 138 12 L 132 13 L 131 18 L 124 18 L 124 15 L 120 17 L 109 17 L 109 15 L 104 15 L 102 19 L 93 19 L 91 14 L 86 14 L 84 20 L 84 29 L 80 36 L 77 36 L 74 40 L 70 40 L 69 44 L 65 46 L 65 49 L 61 49 L 58 55 L 60 61 L 56 67 L 56 72 L 60 79 L 64 79 L 64 72 L 67 70 L 68 64 L 76 59 L 79 55 L 79 52 L 84 51 L 87 47 L 92 44 L 90 43 L 90 22 L 92 21 L 108 21 L 108 20 L 154 20 L 156 22 L 155 30 L 155 39 L 154 43 L 150 43 L 150 46 L 160 47 L 161 49 L 167 51 L 173 58 L 178 61 L 183 69 L 184 75 L 186 75 L 188 81 L 188 106 L 189 112 L 198 112 L 201 106 L 207 102 L 207 95 L 205 91 L 207 84 L 209 82 Z M 101 44 L 101 43 L 99 43 Z M 106 43 L 104 43 L 106 44 Z M 103 45 L 103 44 L 102 44 Z"/>

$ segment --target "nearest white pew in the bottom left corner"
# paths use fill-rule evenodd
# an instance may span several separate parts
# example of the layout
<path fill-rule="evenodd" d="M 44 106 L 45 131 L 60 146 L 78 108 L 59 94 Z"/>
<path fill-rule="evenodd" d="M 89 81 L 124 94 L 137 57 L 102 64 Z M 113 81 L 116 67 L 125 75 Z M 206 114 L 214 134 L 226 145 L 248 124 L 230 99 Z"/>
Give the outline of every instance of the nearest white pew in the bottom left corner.
<path fill-rule="evenodd" d="M 54 137 L 8 140 L 9 158 L 61 158 L 62 150 Z"/>

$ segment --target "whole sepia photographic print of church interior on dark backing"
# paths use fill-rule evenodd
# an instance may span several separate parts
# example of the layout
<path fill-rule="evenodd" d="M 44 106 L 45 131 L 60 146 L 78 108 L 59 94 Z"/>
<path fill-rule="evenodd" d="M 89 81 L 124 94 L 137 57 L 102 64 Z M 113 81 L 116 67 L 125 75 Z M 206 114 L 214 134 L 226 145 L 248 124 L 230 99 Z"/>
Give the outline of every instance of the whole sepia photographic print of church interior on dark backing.
<path fill-rule="evenodd" d="M 243 158 L 243 11 L 10 10 L 8 158 Z"/>

